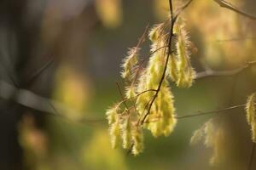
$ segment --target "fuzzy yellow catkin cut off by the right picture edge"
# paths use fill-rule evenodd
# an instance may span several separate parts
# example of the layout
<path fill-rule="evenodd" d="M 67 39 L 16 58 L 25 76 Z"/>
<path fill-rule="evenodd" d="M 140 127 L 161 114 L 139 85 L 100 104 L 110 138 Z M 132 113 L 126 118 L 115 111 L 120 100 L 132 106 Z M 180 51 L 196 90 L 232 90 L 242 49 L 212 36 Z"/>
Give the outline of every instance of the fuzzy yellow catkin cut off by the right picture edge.
<path fill-rule="evenodd" d="M 252 139 L 256 143 L 256 117 L 255 117 L 255 93 L 247 98 L 246 113 L 247 122 L 251 126 Z"/>

